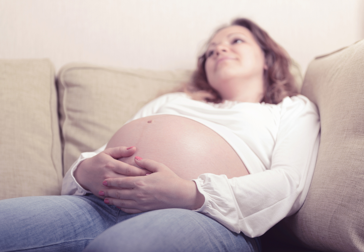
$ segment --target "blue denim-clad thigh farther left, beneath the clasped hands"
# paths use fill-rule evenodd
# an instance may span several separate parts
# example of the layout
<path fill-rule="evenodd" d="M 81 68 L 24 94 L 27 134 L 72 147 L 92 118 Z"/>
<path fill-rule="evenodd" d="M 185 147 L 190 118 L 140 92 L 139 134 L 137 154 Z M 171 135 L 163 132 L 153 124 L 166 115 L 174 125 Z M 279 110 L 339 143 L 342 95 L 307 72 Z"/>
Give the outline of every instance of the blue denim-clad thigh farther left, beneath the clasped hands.
<path fill-rule="evenodd" d="M 1 200 L 0 251 L 82 251 L 118 213 L 95 196 Z"/>

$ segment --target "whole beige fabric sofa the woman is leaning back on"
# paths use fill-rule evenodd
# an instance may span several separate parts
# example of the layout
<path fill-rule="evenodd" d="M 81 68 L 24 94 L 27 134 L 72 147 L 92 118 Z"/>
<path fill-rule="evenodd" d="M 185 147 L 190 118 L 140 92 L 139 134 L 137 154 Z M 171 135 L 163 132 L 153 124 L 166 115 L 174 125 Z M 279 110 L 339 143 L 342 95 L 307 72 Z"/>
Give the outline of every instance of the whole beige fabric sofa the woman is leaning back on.
<path fill-rule="evenodd" d="M 83 151 L 108 141 L 188 71 L 0 60 L 0 199 L 60 194 Z M 321 143 L 298 213 L 262 237 L 265 251 L 364 251 L 364 40 L 312 61 L 302 94 L 320 111 Z"/>

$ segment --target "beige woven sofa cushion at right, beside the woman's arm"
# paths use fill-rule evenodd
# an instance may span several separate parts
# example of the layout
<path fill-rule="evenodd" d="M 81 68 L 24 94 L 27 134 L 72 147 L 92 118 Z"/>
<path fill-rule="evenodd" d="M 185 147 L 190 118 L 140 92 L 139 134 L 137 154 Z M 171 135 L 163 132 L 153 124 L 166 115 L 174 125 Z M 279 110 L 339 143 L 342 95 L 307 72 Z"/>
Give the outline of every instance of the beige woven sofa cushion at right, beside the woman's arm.
<path fill-rule="evenodd" d="M 283 223 L 320 251 L 364 251 L 364 40 L 310 64 L 302 94 L 320 111 L 321 143 L 312 184 Z"/>

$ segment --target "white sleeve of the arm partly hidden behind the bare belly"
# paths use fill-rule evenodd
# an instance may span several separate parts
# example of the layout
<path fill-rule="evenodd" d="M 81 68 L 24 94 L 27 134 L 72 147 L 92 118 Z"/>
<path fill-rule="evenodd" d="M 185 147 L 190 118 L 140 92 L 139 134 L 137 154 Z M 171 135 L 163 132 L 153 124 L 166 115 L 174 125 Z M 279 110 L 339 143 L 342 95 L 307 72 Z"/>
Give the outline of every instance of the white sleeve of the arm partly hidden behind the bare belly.
<path fill-rule="evenodd" d="M 153 101 L 147 103 L 146 105 L 144 105 L 126 123 L 133 121 L 135 119 L 157 114 L 160 107 L 163 106 L 165 103 L 167 103 L 175 98 L 185 96 L 185 95 L 186 94 L 182 93 L 182 92 L 169 93 L 169 94 L 162 95 L 162 96 L 154 99 Z M 101 151 L 104 151 L 105 148 L 106 148 L 106 144 L 95 151 L 81 153 L 79 158 L 72 164 L 71 168 L 68 170 L 68 172 L 66 173 L 66 175 L 63 178 L 61 195 L 85 195 L 87 193 L 91 193 L 90 191 L 84 189 L 76 181 L 75 176 L 74 176 L 75 170 L 77 169 L 77 166 L 82 161 L 84 161 L 86 158 L 94 157 L 95 155 L 99 154 Z"/>

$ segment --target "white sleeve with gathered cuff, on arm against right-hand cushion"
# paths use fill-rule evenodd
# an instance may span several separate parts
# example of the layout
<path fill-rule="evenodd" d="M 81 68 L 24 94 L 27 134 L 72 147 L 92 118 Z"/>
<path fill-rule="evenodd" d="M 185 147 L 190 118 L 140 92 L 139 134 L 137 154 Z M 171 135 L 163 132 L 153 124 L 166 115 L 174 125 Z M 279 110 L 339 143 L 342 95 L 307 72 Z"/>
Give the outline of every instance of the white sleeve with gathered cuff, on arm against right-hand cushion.
<path fill-rule="evenodd" d="M 320 143 L 316 106 L 298 95 L 285 98 L 272 153 L 264 172 L 228 179 L 205 173 L 194 181 L 205 196 L 201 212 L 233 232 L 257 237 L 304 203 Z"/>

